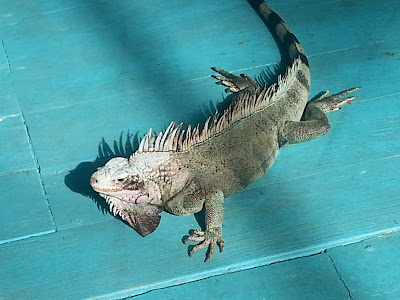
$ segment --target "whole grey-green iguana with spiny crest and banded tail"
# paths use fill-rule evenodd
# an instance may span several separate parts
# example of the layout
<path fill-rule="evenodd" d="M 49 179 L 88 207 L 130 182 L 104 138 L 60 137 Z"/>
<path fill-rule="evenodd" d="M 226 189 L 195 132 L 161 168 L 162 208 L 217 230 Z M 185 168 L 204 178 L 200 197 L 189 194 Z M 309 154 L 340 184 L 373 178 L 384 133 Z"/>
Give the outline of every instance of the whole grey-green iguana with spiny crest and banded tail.
<path fill-rule="evenodd" d="M 307 102 L 310 69 L 307 56 L 289 27 L 264 1 L 251 1 L 290 59 L 285 74 L 260 86 L 247 74 L 212 70 L 217 84 L 234 93 L 230 106 L 200 127 L 174 122 L 158 135 L 152 130 L 129 158 L 116 157 L 99 168 L 91 185 L 110 207 L 142 236 L 153 232 L 159 214 L 197 213 L 205 208 L 205 230 L 192 230 L 185 242 L 199 242 L 190 256 L 208 247 L 206 261 L 222 240 L 224 198 L 260 178 L 279 148 L 328 133 L 326 113 L 350 104 L 343 96 L 359 87 Z"/>

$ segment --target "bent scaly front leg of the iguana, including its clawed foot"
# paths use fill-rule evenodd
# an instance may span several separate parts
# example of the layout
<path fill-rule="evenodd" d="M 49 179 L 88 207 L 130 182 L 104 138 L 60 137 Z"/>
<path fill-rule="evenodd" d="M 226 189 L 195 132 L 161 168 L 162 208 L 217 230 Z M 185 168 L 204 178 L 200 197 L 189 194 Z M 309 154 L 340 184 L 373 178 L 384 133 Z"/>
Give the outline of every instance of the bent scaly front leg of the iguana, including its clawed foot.
<path fill-rule="evenodd" d="M 200 242 L 190 251 L 190 256 L 197 250 L 208 246 L 206 260 L 214 254 L 215 244 L 220 252 L 224 248 L 222 240 L 222 219 L 224 215 L 224 195 L 221 191 L 198 189 L 195 183 L 190 183 L 165 205 L 165 209 L 176 215 L 197 213 L 205 208 L 206 230 L 191 230 L 188 241 Z"/>

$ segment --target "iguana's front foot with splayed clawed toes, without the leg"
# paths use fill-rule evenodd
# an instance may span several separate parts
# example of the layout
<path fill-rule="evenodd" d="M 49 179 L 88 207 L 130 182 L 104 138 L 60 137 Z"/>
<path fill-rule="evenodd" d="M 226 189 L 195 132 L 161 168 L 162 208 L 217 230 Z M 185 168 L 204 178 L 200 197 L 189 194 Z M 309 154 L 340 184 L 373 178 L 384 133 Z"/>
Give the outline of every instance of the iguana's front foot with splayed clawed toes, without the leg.
<path fill-rule="evenodd" d="M 197 250 L 203 249 L 208 246 L 208 252 L 206 255 L 206 261 L 209 261 L 210 258 L 214 255 L 215 244 L 218 245 L 219 251 L 222 252 L 224 250 L 225 243 L 222 240 L 222 229 L 221 228 L 212 228 L 203 230 L 191 230 L 190 236 L 186 237 L 183 242 L 186 244 L 188 241 L 200 242 L 190 251 L 189 256 L 192 257 L 193 253 Z"/>

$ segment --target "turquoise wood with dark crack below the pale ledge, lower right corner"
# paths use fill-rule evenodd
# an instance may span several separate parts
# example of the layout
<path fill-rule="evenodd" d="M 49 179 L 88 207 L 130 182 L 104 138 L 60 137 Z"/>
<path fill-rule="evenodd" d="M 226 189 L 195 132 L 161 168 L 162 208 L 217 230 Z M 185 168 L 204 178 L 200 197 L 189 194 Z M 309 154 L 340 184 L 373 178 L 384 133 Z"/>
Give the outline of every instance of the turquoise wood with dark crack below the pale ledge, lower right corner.
<path fill-rule="evenodd" d="M 399 299 L 398 231 L 325 253 L 224 274 L 135 297 L 188 299 Z"/>

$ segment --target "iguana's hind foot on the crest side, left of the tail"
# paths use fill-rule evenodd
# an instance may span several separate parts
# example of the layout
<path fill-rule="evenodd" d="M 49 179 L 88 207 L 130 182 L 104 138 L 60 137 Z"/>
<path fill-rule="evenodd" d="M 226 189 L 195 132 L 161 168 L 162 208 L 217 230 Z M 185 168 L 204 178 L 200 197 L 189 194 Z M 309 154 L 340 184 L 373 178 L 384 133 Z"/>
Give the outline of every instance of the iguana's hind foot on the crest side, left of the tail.
<path fill-rule="evenodd" d="M 250 94 L 256 94 L 260 91 L 260 86 L 258 83 L 251 79 L 247 74 L 240 74 L 240 76 L 236 76 L 220 68 L 212 67 L 211 69 L 222 75 L 211 75 L 211 77 L 219 80 L 216 82 L 216 84 L 226 86 L 227 88 L 225 89 L 225 92 L 227 93 L 246 91 Z"/>

